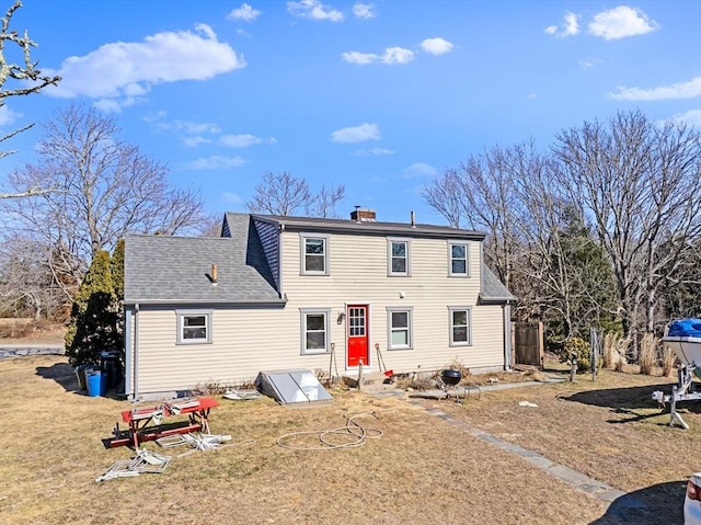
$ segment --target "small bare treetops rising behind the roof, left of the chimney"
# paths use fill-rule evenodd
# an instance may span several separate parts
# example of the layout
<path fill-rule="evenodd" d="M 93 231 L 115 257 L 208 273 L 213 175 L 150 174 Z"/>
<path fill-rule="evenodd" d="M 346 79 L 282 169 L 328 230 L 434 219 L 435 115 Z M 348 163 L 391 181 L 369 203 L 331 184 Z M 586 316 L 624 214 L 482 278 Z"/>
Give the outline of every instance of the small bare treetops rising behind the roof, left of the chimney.
<path fill-rule="evenodd" d="M 249 212 L 271 215 L 298 215 L 306 213 L 314 217 L 333 217 L 334 207 L 345 197 L 345 186 L 333 184 L 321 187 L 313 194 L 309 183 L 287 171 L 263 173 L 263 182 L 255 186 L 253 198 L 245 203 Z"/>

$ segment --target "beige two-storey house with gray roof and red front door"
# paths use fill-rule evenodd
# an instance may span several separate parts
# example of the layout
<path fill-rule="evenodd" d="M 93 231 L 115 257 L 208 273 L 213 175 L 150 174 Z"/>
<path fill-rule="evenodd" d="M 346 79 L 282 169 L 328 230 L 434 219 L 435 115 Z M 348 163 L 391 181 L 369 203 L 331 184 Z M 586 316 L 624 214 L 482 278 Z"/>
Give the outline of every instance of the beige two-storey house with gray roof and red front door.
<path fill-rule="evenodd" d="M 483 239 L 367 209 L 350 219 L 227 213 L 220 238 L 127 236 L 126 395 L 286 368 L 508 369 L 514 297 L 484 265 Z"/>

